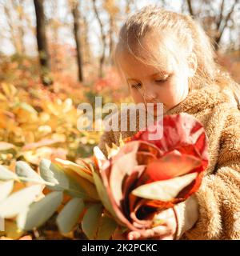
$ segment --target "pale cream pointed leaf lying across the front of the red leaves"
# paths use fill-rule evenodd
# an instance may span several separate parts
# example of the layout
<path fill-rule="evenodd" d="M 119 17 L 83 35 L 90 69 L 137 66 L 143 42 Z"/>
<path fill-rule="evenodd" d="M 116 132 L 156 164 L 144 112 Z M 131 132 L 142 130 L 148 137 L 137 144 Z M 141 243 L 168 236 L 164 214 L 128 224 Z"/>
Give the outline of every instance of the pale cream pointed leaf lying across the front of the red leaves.
<path fill-rule="evenodd" d="M 139 198 L 166 202 L 175 198 L 179 192 L 193 182 L 197 176 L 198 173 L 192 173 L 164 181 L 152 182 L 146 185 L 138 186 L 132 191 L 132 194 Z"/>

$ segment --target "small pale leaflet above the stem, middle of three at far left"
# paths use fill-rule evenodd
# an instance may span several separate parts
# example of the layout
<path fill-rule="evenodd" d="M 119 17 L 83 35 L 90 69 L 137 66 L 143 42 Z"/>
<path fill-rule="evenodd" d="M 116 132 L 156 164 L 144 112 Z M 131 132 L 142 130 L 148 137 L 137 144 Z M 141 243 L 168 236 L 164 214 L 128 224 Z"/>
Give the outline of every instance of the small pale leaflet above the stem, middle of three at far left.
<path fill-rule="evenodd" d="M 22 181 L 37 182 L 39 184 L 46 184 L 46 185 L 51 184 L 50 182 L 46 182 L 26 162 L 23 162 L 23 161 L 18 161 L 16 163 L 16 174 L 20 176 L 19 179 Z"/>

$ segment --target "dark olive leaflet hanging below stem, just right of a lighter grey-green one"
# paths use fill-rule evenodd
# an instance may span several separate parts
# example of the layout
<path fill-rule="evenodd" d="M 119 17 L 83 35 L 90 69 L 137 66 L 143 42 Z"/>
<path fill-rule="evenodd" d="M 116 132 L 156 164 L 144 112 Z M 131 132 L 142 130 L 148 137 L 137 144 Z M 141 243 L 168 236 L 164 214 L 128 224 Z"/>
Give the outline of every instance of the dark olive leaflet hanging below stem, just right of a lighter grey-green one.
<path fill-rule="evenodd" d="M 93 240 L 97 237 L 99 221 L 102 216 L 102 205 L 95 204 L 86 210 L 82 219 L 82 230 L 87 238 Z"/>

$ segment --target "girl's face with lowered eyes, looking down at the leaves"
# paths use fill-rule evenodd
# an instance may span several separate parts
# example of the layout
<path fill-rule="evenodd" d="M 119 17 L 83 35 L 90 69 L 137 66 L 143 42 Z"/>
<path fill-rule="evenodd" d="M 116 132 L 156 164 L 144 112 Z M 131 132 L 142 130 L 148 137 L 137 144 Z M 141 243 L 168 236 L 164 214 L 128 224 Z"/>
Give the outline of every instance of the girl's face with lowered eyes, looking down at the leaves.
<path fill-rule="evenodd" d="M 135 103 L 163 103 L 166 113 L 188 95 L 186 65 L 182 63 L 180 67 L 171 55 L 160 56 L 162 70 L 142 63 L 126 50 L 119 54 L 119 62 Z M 156 112 L 154 107 L 154 115 Z"/>

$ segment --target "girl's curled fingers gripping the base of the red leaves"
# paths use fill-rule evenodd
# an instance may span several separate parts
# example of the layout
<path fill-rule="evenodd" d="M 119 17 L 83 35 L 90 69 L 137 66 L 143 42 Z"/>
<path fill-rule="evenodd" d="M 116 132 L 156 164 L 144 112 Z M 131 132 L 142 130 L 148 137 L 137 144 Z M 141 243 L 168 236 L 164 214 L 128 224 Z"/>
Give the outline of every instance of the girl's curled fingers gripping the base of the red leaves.
<path fill-rule="evenodd" d="M 127 239 L 136 240 L 136 239 L 147 239 L 153 237 L 160 237 L 164 235 L 169 235 L 169 230 L 166 226 L 155 226 L 150 230 L 145 230 L 144 233 L 140 234 L 138 231 L 130 231 L 127 234 Z"/>

